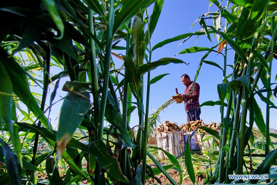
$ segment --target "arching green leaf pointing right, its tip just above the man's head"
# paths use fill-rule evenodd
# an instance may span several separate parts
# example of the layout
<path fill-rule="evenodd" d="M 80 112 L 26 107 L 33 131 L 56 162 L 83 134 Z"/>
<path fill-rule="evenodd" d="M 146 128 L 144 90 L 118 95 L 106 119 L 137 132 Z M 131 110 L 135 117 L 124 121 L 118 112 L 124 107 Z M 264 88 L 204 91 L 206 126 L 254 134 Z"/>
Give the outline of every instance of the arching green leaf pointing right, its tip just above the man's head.
<path fill-rule="evenodd" d="M 180 59 L 162 58 L 162 59 L 159 59 L 155 62 L 150 62 L 150 63 L 147 63 L 147 64 L 143 64 L 142 66 L 139 66 L 140 75 L 143 75 L 148 71 L 156 69 L 159 66 L 164 66 L 164 65 L 167 65 L 167 64 L 170 64 L 170 63 L 175 63 L 175 64 L 185 63 L 185 64 L 187 64 L 186 62 L 184 62 L 183 60 L 180 60 Z"/>

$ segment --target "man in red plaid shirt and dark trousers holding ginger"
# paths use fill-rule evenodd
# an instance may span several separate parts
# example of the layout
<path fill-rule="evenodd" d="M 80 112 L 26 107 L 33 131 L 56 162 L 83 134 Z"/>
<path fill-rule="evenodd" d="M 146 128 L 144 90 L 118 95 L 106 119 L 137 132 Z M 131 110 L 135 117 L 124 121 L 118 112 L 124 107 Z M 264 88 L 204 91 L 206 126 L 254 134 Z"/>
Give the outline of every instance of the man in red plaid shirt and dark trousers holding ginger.
<path fill-rule="evenodd" d="M 181 81 L 186 85 L 185 93 L 181 95 L 181 98 L 185 102 L 185 110 L 187 112 L 187 122 L 200 120 L 201 110 L 199 108 L 199 92 L 200 86 L 198 83 L 193 85 L 190 77 L 187 74 L 181 76 Z M 192 87 L 193 86 L 193 87 Z"/>

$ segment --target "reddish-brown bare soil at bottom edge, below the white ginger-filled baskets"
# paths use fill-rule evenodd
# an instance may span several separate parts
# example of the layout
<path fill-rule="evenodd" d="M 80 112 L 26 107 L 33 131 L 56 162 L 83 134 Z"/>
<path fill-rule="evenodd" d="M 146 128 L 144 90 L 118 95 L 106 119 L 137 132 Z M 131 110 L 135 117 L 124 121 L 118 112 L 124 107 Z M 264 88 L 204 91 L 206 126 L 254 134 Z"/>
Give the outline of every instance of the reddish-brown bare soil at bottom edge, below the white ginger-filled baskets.
<path fill-rule="evenodd" d="M 169 169 L 167 170 L 167 173 L 172 177 L 172 179 L 175 180 L 177 184 L 179 183 L 179 172 L 177 170 Z M 162 182 L 162 185 L 171 184 L 164 174 L 159 174 L 159 175 L 156 175 L 155 177 L 157 177 Z M 195 176 L 195 180 L 198 184 L 202 184 L 205 178 L 206 176 L 203 176 L 203 175 Z M 146 180 L 145 185 L 150 185 L 150 184 L 159 184 L 159 183 L 155 179 L 154 181 L 153 179 Z M 183 179 L 182 184 L 184 185 L 184 184 L 193 184 L 193 183 L 191 182 L 190 179 Z"/>

